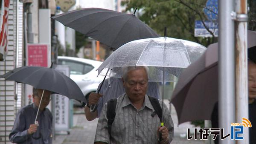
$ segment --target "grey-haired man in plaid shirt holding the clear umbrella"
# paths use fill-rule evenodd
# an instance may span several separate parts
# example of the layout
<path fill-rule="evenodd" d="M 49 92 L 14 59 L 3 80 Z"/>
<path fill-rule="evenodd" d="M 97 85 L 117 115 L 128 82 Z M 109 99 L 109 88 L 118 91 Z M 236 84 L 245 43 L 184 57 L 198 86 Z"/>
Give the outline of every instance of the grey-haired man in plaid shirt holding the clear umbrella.
<path fill-rule="evenodd" d="M 95 144 L 157 144 L 158 133 L 162 133 L 161 144 L 169 144 L 173 138 L 173 122 L 166 105 L 163 105 L 163 122 L 154 114 L 154 108 L 146 95 L 148 68 L 144 66 L 122 69 L 122 83 L 125 94 L 116 101 L 115 118 L 108 132 L 108 103 L 99 117 Z M 157 101 L 161 103 L 160 101 Z"/>

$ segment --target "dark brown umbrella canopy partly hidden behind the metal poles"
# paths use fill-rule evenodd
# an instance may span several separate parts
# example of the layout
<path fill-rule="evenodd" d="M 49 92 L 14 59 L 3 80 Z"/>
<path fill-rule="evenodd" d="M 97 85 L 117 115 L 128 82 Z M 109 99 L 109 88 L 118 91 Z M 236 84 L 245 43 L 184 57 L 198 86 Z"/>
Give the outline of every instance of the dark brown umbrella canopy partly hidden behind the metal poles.
<path fill-rule="evenodd" d="M 248 31 L 248 47 L 248 57 L 255 59 L 256 32 Z M 172 104 L 181 124 L 186 121 L 211 120 L 212 109 L 217 101 L 218 43 L 213 43 L 204 55 L 182 72 L 172 95 Z"/>

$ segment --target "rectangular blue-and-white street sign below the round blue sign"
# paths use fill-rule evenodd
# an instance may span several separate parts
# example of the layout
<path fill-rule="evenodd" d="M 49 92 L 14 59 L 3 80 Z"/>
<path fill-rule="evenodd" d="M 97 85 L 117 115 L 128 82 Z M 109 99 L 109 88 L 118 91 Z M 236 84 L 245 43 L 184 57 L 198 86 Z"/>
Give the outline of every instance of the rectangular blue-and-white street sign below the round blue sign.
<path fill-rule="evenodd" d="M 218 37 L 218 23 L 212 21 L 204 21 L 206 27 L 213 32 L 215 37 Z M 205 29 L 204 24 L 201 20 L 195 20 L 195 37 L 212 37 L 212 35 Z"/>

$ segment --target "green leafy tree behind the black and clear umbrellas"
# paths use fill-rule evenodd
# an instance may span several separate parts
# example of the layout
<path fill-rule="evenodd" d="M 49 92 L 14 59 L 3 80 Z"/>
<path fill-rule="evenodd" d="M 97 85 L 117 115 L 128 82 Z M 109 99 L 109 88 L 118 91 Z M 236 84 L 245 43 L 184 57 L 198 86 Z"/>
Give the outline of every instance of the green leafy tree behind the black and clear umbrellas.
<path fill-rule="evenodd" d="M 125 11 L 132 11 L 135 7 L 143 9 L 140 20 L 162 36 L 164 27 L 167 27 L 168 37 L 208 46 L 217 41 L 213 33 L 213 37 L 209 38 L 194 36 L 195 20 L 207 20 L 203 12 L 206 2 L 207 0 L 125 0 L 122 5 L 126 6 Z"/>

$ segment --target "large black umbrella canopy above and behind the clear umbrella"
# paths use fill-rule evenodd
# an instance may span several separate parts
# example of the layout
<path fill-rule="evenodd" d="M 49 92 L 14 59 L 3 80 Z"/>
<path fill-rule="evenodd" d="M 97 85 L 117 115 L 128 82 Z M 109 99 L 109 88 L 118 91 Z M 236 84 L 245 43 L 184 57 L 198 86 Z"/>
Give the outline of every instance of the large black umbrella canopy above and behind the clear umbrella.
<path fill-rule="evenodd" d="M 159 37 L 135 14 L 126 14 L 108 9 L 78 9 L 52 18 L 64 24 L 64 26 L 111 46 L 113 49 L 118 49 L 132 40 Z"/>

